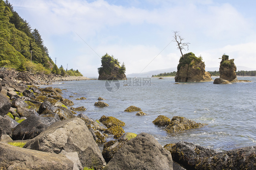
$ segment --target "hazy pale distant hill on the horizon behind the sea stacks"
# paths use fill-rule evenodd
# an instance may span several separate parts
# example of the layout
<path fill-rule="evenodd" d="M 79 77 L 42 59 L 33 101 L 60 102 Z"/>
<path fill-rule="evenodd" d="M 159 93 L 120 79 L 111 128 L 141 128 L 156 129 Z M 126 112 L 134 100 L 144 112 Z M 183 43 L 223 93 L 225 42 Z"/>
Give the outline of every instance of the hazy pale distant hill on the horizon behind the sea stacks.
<path fill-rule="evenodd" d="M 255 71 L 256 69 L 248 68 L 245 66 L 236 66 L 237 71 Z M 218 71 L 219 67 L 205 67 L 205 71 Z M 149 71 L 149 72 L 143 72 L 143 73 L 132 73 L 132 74 L 127 74 L 126 77 L 151 77 L 152 75 L 157 75 L 160 73 L 164 72 L 177 72 L 177 67 L 172 67 L 168 69 L 160 69 L 160 70 L 154 70 L 154 71 Z"/>

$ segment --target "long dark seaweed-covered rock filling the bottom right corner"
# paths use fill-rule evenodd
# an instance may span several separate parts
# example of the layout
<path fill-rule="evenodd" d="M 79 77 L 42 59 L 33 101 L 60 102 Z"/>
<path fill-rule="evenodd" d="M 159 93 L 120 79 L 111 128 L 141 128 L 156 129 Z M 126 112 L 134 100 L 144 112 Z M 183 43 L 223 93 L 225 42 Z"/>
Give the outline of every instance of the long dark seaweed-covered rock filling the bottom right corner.
<path fill-rule="evenodd" d="M 256 146 L 216 152 L 190 142 L 178 142 L 167 148 L 173 161 L 191 170 L 255 169 Z"/>

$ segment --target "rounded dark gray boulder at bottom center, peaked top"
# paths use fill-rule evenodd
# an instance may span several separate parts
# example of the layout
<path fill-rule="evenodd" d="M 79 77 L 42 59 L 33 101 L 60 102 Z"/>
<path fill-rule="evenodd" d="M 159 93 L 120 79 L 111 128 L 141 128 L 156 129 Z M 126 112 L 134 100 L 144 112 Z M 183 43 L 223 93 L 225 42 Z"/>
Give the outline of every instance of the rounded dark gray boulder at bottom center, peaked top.
<path fill-rule="evenodd" d="M 104 170 L 173 170 L 171 153 L 150 134 L 141 133 L 121 147 Z"/>

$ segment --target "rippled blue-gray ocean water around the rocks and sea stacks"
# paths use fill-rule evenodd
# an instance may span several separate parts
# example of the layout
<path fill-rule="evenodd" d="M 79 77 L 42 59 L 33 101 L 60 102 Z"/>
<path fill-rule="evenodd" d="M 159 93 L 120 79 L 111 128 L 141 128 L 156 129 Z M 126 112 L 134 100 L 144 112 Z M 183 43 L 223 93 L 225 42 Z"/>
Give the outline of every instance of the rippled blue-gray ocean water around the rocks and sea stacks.
<path fill-rule="evenodd" d="M 256 77 L 238 77 L 238 80 L 253 82 L 230 85 L 216 85 L 213 82 L 174 84 L 174 77 L 166 77 L 163 80 L 131 78 L 113 82 L 65 81 L 51 86 L 67 89 L 63 90 L 62 96 L 74 102 L 70 107 L 87 108 L 78 113 L 93 119 L 100 119 L 102 115 L 116 117 L 126 124 L 123 127 L 125 132 L 152 134 L 162 146 L 187 141 L 224 151 L 256 144 Z M 80 97 L 87 99 L 75 100 Z M 104 102 L 109 107 L 95 107 L 98 97 L 105 98 Z M 124 112 L 131 105 L 140 107 L 148 115 L 136 116 L 137 112 Z M 159 115 L 170 119 L 183 116 L 208 125 L 170 134 L 164 130 L 165 127 L 152 123 Z M 111 139 L 113 136 L 107 138 Z"/>

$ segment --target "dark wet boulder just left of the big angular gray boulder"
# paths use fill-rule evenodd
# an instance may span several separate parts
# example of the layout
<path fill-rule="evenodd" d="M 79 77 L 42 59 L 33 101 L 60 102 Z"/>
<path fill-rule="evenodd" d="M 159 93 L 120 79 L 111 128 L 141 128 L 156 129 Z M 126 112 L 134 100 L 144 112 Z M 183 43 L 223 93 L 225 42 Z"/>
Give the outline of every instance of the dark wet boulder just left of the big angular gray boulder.
<path fill-rule="evenodd" d="M 59 120 L 54 117 L 40 117 L 37 115 L 31 115 L 13 129 L 12 139 L 33 139 L 46 128 L 48 128 L 51 124 L 57 121 Z"/>

